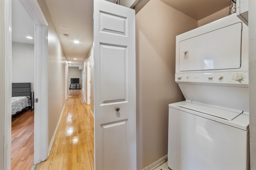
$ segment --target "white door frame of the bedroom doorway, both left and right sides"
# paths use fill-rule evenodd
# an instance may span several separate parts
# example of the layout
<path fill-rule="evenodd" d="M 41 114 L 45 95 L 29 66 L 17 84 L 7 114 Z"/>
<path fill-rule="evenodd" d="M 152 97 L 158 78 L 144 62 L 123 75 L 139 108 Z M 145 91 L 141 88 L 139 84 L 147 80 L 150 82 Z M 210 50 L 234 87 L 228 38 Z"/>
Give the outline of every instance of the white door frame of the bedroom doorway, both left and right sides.
<path fill-rule="evenodd" d="M 21 0 L 35 22 L 35 98 L 34 104 L 34 164 L 48 157 L 48 23 L 36 0 Z M 11 168 L 11 96 L 12 96 L 12 2 L 5 3 L 5 137 L 4 169 Z"/>

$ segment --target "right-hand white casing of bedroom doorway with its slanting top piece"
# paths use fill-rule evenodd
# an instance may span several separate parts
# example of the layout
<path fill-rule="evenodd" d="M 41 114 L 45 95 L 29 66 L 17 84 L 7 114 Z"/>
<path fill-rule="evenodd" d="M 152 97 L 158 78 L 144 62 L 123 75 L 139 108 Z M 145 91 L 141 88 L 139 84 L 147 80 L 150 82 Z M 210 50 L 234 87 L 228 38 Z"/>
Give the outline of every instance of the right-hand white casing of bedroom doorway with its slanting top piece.
<path fill-rule="evenodd" d="M 34 164 L 48 157 L 48 23 L 36 0 L 22 0 L 35 22 Z"/>

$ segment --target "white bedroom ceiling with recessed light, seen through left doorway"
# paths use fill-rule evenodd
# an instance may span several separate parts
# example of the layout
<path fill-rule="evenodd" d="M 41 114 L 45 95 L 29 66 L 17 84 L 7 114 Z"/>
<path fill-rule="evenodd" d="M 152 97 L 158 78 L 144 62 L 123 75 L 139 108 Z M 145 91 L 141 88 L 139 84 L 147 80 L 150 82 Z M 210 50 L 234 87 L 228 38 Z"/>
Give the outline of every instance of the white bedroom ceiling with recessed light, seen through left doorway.
<path fill-rule="evenodd" d="M 12 41 L 34 44 L 34 21 L 26 12 L 20 0 L 12 0 Z"/>

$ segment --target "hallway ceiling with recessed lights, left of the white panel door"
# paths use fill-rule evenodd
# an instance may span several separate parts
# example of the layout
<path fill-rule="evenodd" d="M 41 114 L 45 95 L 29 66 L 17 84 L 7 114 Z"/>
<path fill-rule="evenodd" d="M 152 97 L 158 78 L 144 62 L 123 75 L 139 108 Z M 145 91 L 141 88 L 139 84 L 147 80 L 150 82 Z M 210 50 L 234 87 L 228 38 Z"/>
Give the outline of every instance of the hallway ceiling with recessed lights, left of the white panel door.
<path fill-rule="evenodd" d="M 46 0 L 46 4 L 69 64 L 82 65 L 93 43 L 93 0 Z"/>

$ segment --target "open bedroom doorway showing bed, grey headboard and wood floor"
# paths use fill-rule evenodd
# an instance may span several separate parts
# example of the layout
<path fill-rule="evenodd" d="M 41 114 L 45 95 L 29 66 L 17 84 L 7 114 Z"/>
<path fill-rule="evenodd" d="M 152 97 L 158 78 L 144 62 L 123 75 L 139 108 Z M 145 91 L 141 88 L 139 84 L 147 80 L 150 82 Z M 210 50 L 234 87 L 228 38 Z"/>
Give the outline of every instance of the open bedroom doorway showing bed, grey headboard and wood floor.
<path fill-rule="evenodd" d="M 22 2 L 12 0 L 11 169 L 34 164 L 34 25 Z"/>

